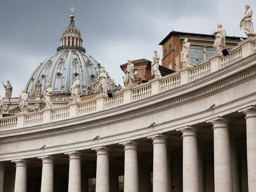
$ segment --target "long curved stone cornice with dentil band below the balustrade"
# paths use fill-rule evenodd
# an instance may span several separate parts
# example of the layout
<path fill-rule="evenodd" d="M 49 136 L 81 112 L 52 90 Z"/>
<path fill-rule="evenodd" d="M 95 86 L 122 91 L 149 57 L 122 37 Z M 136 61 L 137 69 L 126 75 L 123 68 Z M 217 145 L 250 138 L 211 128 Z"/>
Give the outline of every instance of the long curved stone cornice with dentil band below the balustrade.
<path fill-rule="evenodd" d="M 254 54 L 254 58 L 255 56 L 256 54 Z M 247 58 L 247 60 L 243 59 L 237 62 L 234 66 L 230 65 L 215 73 L 212 73 L 204 78 L 198 79 L 184 86 L 177 87 L 173 90 L 166 91 L 166 92 L 151 96 L 149 98 L 142 99 L 137 102 L 132 102 L 126 105 L 113 108 L 113 109 L 100 111 L 98 113 L 93 113 L 87 116 L 80 116 L 73 119 L 67 119 L 67 120 L 54 122 L 54 123 L 52 122 L 49 124 L 38 125 L 38 126 L 26 128 L 26 129 L 22 128 L 19 130 L 12 130 L 13 132 L 16 132 L 16 134 L 18 135 L 14 135 L 11 137 L 4 137 L 4 133 L 3 133 L 2 139 L 0 139 L 0 143 L 15 142 L 18 140 L 29 140 L 29 139 L 35 139 L 38 137 L 49 137 L 49 136 L 54 136 L 58 134 L 66 134 L 73 131 L 95 128 L 97 126 L 116 123 L 116 122 L 124 121 L 126 119 L 148 115 L 151 113 L 155 113 L 157 111 L 161 111 L 166 108 L 172 108 L 177 105 L 182 105 L 184 103 L 194 101 L 196 99 L 201 99 L 202 97 L 209 96 L 220 90 L 227 89 L 229 87 L 235 86 L 236 84 L 239 84 L 241 82 L 244 82 L 253 78 L 256 75 L 256 67 L 253 65 L 249 65 L 249 67 L 247 66 L 247 68 L 244 67 L 245 69 L 247 69 L 246 71 L 243 71 L 242 73 L 239 73 L 240 71 L 237 72 L 239 74 L 230 74 L 230 77 L 225 77 L 223 79 L 220 78 L 222 81 L 221 82 L 218 81 L 219 79 L 217 78 L 217 76 L 221 76 L 221 74 L 219 73 L 222 73 L 223 75 L 223 74 L 227 74 L 229 71 L 239 68 L 239 66 L 241 68 L 241 63 L 246 61 L 250 61 L 250 59 L 249 58 Z M 198 87 L 195 90 L 192 89 L 192 85 L 196 87 L 196 85 L 201 84 L 201 81 L 204 81 L 206 83 L 207 79 L 212 80 L 212 76 L 216 77 L 217 82 L 213 81 L 207 87 L 204 87 L 204 85 L 202 85 L 202 87 Z M 189 87 L 189 86 L 190 86 L 190 90 L 186 89 L 186 87 Z M 177 93 L 180 92 L 180 90 L 183 90 L 183 93 L 178 95 Z M 177 96 L 172 97 L 175 94 L 177 94 Z M 158 103 L 155 102 L 156 100 Z M 153 101 L 155 103 L 153 103 Z M 98 117 L 98 119 L 96 117 Z M 79 122 L 81 119 L 83 119 L 84 122 Z M 79 125 L 74 125 L 74 123 Z M 49 125 L 51 125 L 52 127 L 58 125 L 58 127 L 52 128 L 49 130 L 42 129 L 46 127 L 49 128 Z M 33 131 L 33 130 L 37 132 L 29 133 L 29 131 Z M 6 132 L 10 133 L 12 131 L 9 130 Z"/>

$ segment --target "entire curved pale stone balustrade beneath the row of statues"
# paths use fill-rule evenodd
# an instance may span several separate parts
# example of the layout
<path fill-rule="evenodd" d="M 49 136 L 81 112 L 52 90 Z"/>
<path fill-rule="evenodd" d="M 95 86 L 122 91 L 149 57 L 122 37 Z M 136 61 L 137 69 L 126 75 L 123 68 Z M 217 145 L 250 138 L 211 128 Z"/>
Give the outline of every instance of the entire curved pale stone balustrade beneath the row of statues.
<path fill-rule="evenodd" d="M 186 67 L 170 75 L 151 79 L 146 83 L 134 87 L 125 87 L 114 93 L 113 98 L 98 95 L 87 101 L 70 103 L 58 108 L 44 109 L 35 113 L 20 113 L 15 116 L 0 118 L 0 130 L 4 131 L 56 122 L 136 102 L 155 94 L 172 90 L 183 84 L 196 81 L 210 73 L 221 70 L 242 58 L 246 58 L 255 52 L 256 38 L 247 39 L 241 41 L 236 47 L 233 47 L 233 49 L 230 50 L 230 55 L 213 55 L 207 58 L 206 61 L 197 64 L 195 67 Z"/>

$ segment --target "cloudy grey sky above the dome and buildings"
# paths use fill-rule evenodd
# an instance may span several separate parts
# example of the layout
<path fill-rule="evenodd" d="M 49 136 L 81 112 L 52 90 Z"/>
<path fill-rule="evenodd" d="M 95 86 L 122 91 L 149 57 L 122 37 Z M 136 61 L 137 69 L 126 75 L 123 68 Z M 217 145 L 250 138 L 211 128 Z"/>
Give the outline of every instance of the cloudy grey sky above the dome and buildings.
<path fill-rule="evenodd" d="M 128 59 L 151 60 L 172 31 L 211 34 L 221 22 L 229 36 L 239 29 L 245 3 L 256 11 L 255 0 L 1 0 L 0 81 L 10 80 L 13 96 L 26 85 L 35 67 L 56 53 L 62 29 L 75 8 L 87 54 L 104 64 L 116 83 L 124 75 L 119 65 Z M 255 9 L 254 9 L 255 8 Z M 256 15 L 253 15 L 256 23 Z M 171 27 L 172 26 L 172 27 Z M 254 24 L 254 28 L 256 25 Z M 0 86 L 0 95 L 4 96 Z"/>

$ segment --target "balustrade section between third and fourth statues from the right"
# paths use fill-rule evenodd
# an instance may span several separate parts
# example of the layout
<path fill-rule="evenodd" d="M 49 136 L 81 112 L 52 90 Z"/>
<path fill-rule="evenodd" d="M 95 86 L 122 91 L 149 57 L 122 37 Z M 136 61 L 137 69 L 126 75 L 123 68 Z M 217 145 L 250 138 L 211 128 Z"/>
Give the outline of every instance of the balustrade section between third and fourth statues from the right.
<path fill-rule="evenodd" d="M 161 79 L 160 92 L 164 92 L 180 86 L 180 73 L 174 73 L 172 76 L 165 76 Z"/>

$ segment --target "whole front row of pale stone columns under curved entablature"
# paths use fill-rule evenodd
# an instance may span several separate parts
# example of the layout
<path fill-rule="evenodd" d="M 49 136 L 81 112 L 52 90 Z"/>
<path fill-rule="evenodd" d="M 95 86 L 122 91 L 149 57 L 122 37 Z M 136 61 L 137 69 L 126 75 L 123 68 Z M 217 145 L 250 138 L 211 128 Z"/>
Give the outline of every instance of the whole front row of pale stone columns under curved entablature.
<path fill-rule="evenodd" d="M 256 108 L 243 111 L 246 115 L 247 131 L 247 167 L 248 189 L 256 189 Z M 236 171 L 232 172 L 232 145 L 230 143 L 229 122 L 223 118 L 209 121 L 214 135 L 214 188 L 215 192 L 236 191 Z M 183 138 L 183 192 L 200 192 L 200 154 L 198 153 L 198 128 L 187 126 L 178 131 Z M 170 174 L 167 156 L 167 138 L 164 134 L 156 134 L 148 139 L 153 144 L 153 192 L 171 192 Z M 140 179 L 146 179 L 145 170 L 139 167 L 137 142 L 128 140 L 119 143 L 124 147 L 124 192 L 144 192 L 140 189 Z M 96 151 L 96 192 L 110 192 L 110 185 L 117 188 L 116 174 L 110 173 L 109 148 L 102 146 L 93 148 Z M 79 151 L 65 153 L 69 156 L 68 192 L 81 192 L 81 154 Z M 38 157 L 42 160 L 41 192 L 53 192 L 54 157 Z M 26 192 L 26 160 L 13 160 L 16 164 L 15 192 Z M 205 166 L 208 169 L 208 165 Z M 140 170 L 140 172 L 139 172 Z M 143 173 L 145 173 L 143 175 Z M 111 177 L 111 178 L 110 178 Z M 117 189 L 116 189 L 117 190 Z M 0 192 L 3 191 L 3 166 L 0 165 Z"/>

